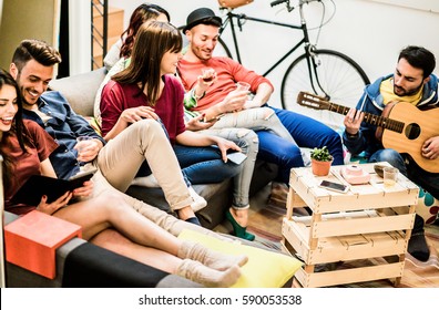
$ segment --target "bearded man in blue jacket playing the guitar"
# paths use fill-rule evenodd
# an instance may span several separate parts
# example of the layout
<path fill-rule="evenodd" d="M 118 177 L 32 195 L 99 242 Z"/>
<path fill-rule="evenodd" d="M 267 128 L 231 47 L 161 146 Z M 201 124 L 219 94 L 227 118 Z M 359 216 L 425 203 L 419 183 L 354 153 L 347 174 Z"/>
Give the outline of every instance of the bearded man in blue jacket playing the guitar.
<path fill-rule="evenodd" d="M 439 157 L 439 134 L 427 137 L 410 154 L 398 153 L 394 148 L 384 146 L 386 143 L 377 134 L 381 132 L 380 127 L 364 122 L 365 114 L 386 116 L 384 114 L 389 110 L 386 106 L 390 107 L 390 104 L 398 104 L 398 102 L 410 103 L 420 111 L 438 108 L 438 78 L 432 74 L 435 66 L 435 55 L 430 51 L 420 46 L 405 48 L 398 56 L 395 73 L 368 85 L 357 107 L 350 108 L 346 114 L 344 120 L 346 130 L 343 138 L 351 154 L 356 155 L 365 151 L 371 163 L 390 163 L 401 174 L 439 199 L 439 173 L 433 168 Z M 409 113 L 406 111 L 406 114 Z M 433 133 L 439 133 L 437 118 L 430 118 L 426 125 Z M 421 132 L 421 128 L 418 128 L 418 132 Z M 385 134 L 386 130 L 382 138 Z M 410 137 L 406 143 L 410 144 Z M 419 161 L 415 159 L 417 156 Z M 418 164 L 421 161 L 427 163 L 422 168 Z M 423 219 L 419 215 L 416 215 L 408 252 L 422 261 L 428 260 L 430 255 L 423 235 Z"/>

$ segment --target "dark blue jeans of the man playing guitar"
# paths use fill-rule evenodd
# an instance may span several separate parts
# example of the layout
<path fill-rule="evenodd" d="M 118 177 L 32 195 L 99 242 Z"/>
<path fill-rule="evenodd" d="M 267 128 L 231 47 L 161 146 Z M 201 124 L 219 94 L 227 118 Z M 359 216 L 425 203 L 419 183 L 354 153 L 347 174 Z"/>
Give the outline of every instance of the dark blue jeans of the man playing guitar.
<path fill-rule="evenodd" d="M 406 159 L 408 164 L 406 164 Z M 439 174 L 421 169 L 411 158 L 402 157 L 395 149 L 384 148 L 375 152 L 368 161 L 369 163 L 388 162 L 411 182 L 426 189 L 436 199 L 439 199 Z"/>

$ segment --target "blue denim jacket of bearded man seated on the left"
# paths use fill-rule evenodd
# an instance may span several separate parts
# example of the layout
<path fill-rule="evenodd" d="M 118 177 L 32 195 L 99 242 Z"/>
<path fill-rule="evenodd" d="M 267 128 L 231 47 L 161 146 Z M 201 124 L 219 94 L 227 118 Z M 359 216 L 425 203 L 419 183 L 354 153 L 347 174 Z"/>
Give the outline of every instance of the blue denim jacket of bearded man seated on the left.
<path fill-rule="evenodd" d="M 50 161 L 59 178 L 69 178 L 79 172 L 76 161 L 78 152 L 73 149 L 78 136 L 92 136 L 105 141 L 89 125 L 80 115 L 73 112 L 67 99 L 59 92 L 44 92 L 38 107 L 52 118 L 45 124 L 33 111 L 23 110 L 23 117 L 37 122 L 59 144 L 59 147 L 50 155 Z"/>

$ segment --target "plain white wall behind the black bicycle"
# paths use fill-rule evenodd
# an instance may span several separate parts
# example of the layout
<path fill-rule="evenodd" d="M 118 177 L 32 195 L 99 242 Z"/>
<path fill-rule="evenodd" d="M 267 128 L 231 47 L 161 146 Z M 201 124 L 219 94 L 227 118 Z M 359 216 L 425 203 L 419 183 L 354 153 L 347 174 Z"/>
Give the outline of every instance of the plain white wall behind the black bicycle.
<path fill-rule="evenodd" d="M 110 0 L 111 6 L 125 9 L 125 27 L 132 11 L 142 2 Z M 222 14 L 216 0 L 155 0 L 151 2 L 166 9 L 171 14 L 171 22 L 175 25 L 184 24 L 187 14 L 200 7 L 211 8 L 217 14 Z M 283 6 L 270 8 L 269 2 L 269 0 L 255 0 L 235 11 L 263 19 L 298 23 L 297 10 L 287 13 L 283 10 Z M 323 28 L 318 46 L 338 50 L 351 56 L 363 66 L 370 80 L 392 72 L 400 49 L 408 44 L 423 45 L 439 59 L 439 40 L 435 34 L 439 29 L 439 1 L 334 0 L 334 2 L 335 16 Z M 297 3 L 297 0 L 292 0 L 292 3 Z M 327 3 L 328 17 L 333 12 L 333 4 L 329 0 L 325 0 L 325 3 Z M 319 3 L 306 6 L 310 28 L 319 24 L 320 8 Z M 299 31 L 247 22 L 244 31 L 239 33 L 239 43 L 244 54 L 243 64 L 259 73 L 265 72 L 274 63 L 274 59 L 283 55 L 292 45 L 290 42 L 299 34 Z M 314 30 L 312 39 L 316 35 L 317 31 Z M 227 34 L 224 39 L 227 41 Z M 277 90 L 280 89 L 283 73 L 293 59 L 294 55 L 268 75 Z M 435 72 L 439 72 L 439 65 Z M 278 92 L 272 101 L 274 105 L 279 104 Z"/>

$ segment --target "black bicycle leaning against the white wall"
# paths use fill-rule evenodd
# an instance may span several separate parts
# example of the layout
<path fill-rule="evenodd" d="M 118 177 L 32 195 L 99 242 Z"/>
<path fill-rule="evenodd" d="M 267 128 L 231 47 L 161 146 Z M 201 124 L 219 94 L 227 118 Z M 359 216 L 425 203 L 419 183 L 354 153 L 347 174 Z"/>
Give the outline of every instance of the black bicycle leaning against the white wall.
<path fill-rule="evenodd" d="M 297 104 L 295 103 L 297 95 L 300 91 L 306 91 L 319 96 L 324 96 L 328 101 L 333 100 L 336 102 L 341 102 L 348 106 L 355 106 L 359 95 L 363 93 L 365 85 L 370 83 L 365 71 L 351 58 L 335 50 L 319 50 L 317 49 L 316 44 L 313 44 L 309 41 L 304 4 L 308 4 L 310 2 L 320 2 L 324 6 L 323 1 L 324 0 L 299 0 L 296 7 L 290 4 L 290 0 L 276 0 L 270 2 L 272 8 L 285 3 L 288 12 L 292 12 L 295 8 L 298 7 L 300 24 L 289 24 L 276 22 L 273 20 L 253 18 L 246 14 L 237 14 L 233 12 L 235 8 L 245 6 L 246 3 L 252 1 L 238 1 L 243 3 L 238 6 L 229 6 L 227 8 L 222 6 L 222 3 L 225 3 L 227 1 L 218 0 L 218 3 L 221 6 L 220 9 L 227 10 L 225 20 L 223 20 L 223 25 L 220 29 L 220 34 L 225 31 L 227 25 L 231 27 L 233 44 L 235 48 L 234 51 L 239 63 L 242 63 L 242 59 L 239 54 L 239 46 L 236 38 L 235 27 L 238 27 L 242 30 L 245 23 L 243 21 L 248 20 L 258 23 L 289 28 L 293 30 L 302 30 L 302 40 L 296 42 L 296 44 L 288 52 L 286 52 L 265 73 L 263 73 L 263 75 L 266 76 L 280 63 L 283 63 L 299 46 L 304 46 L 305 53 L 299 55 L 292 62 L 283 76 L 280 86 L 280 100 L 283 108 L 297 111 Z M 233 58 L 231 49 L 221 37 L 218 38 L 218 44 L 221 45 L 220 49 L 223 49 L 227 56 Z M 319 113 L 327 112 L 320 111 Z M 335 120 L 336 117 L 338 116 L 329 116 L 329 118 L 333 120 Z M 334 123 L 339 124 L 339 120 Z"/>

